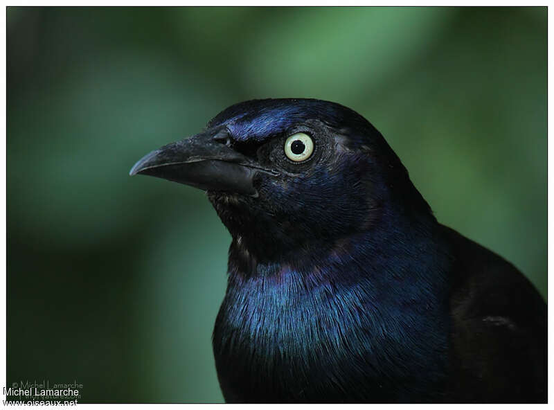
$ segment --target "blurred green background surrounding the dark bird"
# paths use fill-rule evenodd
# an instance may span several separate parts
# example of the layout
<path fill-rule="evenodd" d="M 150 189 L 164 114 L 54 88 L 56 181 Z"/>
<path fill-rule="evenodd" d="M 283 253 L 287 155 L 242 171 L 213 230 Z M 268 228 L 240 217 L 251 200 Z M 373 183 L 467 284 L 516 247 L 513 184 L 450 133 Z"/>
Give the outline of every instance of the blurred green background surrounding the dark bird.
<path fill-rule="evenodd" d="M 225 107 L 366 116 L 440 222 L 546 297 L 546 8 L 8 8 L 8 386 L 221 402 L 229 233 L 204 193 L 129 177 Z"/>

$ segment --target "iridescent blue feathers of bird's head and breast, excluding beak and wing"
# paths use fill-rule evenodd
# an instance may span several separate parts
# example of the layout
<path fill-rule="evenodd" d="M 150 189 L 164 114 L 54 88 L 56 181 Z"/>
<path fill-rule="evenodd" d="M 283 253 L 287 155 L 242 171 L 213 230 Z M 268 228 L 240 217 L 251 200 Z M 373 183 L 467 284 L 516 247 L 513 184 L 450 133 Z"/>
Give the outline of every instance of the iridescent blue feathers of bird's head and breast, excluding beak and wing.
<path fill-rule="evenodd" d="M 299 124 L 332 130 L 316 140 L 318 162 L 261 177 L 260 198 L 208 193 L 233 234 L 214 332 L 226 399 L 440 400 L 448 249 L 382 136 L 319 100 L 254 101 L 210 123 L 238 144 L 278 141 Z M 391 184 L 406 187 L 401 198 Z"/>

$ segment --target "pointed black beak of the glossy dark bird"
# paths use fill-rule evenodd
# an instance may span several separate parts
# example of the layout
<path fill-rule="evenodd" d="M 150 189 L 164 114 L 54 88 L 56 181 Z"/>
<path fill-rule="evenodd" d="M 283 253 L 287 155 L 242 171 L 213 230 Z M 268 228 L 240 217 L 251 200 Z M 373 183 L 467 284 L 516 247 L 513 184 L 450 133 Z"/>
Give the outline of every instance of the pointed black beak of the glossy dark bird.
<path fill-rule="evenodd" d="M 189 139 L 165 145 L 140 159 L 129 175 L 151 175 L 195 186 L 256 195 L 253 178 L 258 172 L 276 175 L 256 161 L 230 148 L 226 129 L 208 130 Z"/>

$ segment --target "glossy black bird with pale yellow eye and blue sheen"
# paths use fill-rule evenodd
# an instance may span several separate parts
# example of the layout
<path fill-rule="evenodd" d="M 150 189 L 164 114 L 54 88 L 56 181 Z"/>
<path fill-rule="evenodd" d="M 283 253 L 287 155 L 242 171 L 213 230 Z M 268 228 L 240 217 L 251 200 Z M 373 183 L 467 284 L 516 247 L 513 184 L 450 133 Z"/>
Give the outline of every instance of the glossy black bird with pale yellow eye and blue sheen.
<path fill-rule="evenodd" d="M 129 174 L 206 191 L 231 233 L 212 336 L 226 402 L 546 402 L 542 296 L 440 224 L 354 110 L 245 101 Z"/>

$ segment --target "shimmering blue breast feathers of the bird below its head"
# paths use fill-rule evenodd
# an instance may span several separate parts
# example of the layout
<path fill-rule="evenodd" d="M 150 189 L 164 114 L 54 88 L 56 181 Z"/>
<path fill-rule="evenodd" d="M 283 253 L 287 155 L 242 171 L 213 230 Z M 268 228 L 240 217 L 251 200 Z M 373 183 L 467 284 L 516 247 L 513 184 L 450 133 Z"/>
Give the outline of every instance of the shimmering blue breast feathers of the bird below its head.
<path fill-rule="evenodd" d="M 409 401 L 440 390 L 429 385 L 444 382 L 447 363 L 448 251 L 433 223 L 383 232 L 263 262 L 233 238 L 213 335 L 226 400 Z"/>

